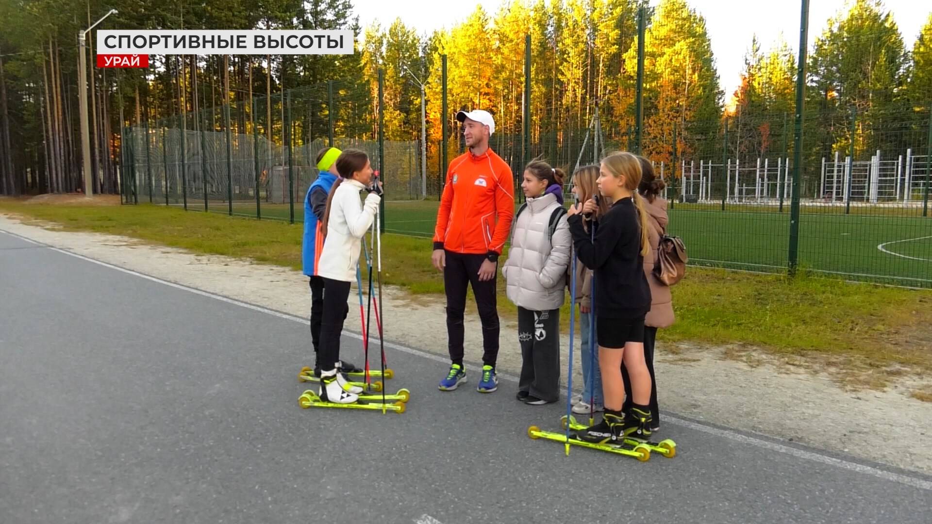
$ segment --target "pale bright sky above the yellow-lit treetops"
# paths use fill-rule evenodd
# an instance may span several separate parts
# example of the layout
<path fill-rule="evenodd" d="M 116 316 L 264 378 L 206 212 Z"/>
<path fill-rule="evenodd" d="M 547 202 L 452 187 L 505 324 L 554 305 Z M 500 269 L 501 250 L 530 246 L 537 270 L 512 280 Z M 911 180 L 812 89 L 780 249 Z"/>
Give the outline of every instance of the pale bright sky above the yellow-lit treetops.
<path fill-rule="evenodd" d="M 712 40 L 712 52 L 725 100 L 740 83 L 744 56 L 750 47 L 751 37 L 757 34 L 761 49 L 766 51 L 783 34 L 789 47 L 798 48 L 800 40 L 799 0 L 687 0 L 689 5 L 706 18 L 706 29 Z M 848 0 L 811 0 L 809 3 L 809 46 L 812 49 L 816 37 L 822 34 L 826 21 Z M 404 0 L 387 2 L 386 0 L 352 0 L 355 13 L 359 15 L 363 27 L 372 21 L 379 21 L 383 26 L 391 24 L 395 18 L 401 18 L 405 25 L 414 27 L 422 34 L 430 34 L 435 29 L 450 28 L 459 21 L 464 21 L 473 12 L 476 5 L 481 5 L 490 15 L 494 15 L 502 4 L 501 0 L 460 0 L 444 2 L 438 0 Z M 651 0 L 651 6 L 659 4 Z M 916 35 L 932 11 L 930 4 L 923 0 L 885 0 L 884 7 L 893 13 L 900 34 L 911 49 Z M 794 51 L 795 52 L 795 51 Z"/>

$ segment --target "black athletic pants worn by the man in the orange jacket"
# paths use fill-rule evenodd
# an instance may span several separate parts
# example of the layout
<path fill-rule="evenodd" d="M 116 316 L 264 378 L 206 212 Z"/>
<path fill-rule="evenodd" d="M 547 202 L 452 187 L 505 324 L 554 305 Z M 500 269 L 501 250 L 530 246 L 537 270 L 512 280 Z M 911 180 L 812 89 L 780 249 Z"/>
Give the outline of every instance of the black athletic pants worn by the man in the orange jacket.
<path fill-rule="evenodd" d="M 473 285 L 475 305 L 482 321 L 482 362 L 494 367 L 499 358 L 499 310 L 495 294 L 499 270 L 496 265 L 492 280 L 479 282 L 479 268 L 486 260 L 486 255 L 446 252 L 446 335 L 453 364 L 463 364 L 463 314 L 466 311 L 466 286 L 470 284 Z"/>

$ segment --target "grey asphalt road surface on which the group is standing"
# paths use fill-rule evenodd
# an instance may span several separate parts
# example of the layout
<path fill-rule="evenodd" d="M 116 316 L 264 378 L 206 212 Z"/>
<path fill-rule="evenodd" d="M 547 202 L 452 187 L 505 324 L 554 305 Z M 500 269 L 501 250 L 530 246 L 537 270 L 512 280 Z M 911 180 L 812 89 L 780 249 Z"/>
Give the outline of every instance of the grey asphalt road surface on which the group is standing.
<path fill-rule="evenodd" d="M 681 417 L 658 435 L 677 441 L 674 459 L 584 448 L 566 457 L 562 444 L 526 434 L 531 424 L 559 431 L 564 404 L 524 406 L 508 379 L 497 393 L 476 393 L 476 365 L 466 387 L 439 392 L 445 365 L 418 352 L 389 352 L 389 390 L 412 392 L 402 415 L 301 409 L 308 327 L 286 317 L 0 232 L 0 522 L 932 515 L 928 477 Z M 444 326 L 425 329 L 444 337 Z M 359 364 L 359 340 L 343 343 Z"/>

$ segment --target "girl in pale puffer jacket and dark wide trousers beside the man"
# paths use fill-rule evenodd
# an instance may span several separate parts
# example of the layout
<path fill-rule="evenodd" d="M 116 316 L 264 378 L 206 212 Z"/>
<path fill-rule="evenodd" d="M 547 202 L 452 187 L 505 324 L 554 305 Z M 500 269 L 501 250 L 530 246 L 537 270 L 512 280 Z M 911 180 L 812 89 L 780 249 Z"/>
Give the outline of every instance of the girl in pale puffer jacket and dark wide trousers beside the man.
<path fill-rule="evenodd" d="M 528 164 L 521 184 L 528 200 L 514 219 L 508 260 L 501 269 L 508 298 L 518 307 L 518 399 L 531 406 L 559 399 L 560 306 L 566 300 L 571 241 L 563 177 L 541 160 Z"/>

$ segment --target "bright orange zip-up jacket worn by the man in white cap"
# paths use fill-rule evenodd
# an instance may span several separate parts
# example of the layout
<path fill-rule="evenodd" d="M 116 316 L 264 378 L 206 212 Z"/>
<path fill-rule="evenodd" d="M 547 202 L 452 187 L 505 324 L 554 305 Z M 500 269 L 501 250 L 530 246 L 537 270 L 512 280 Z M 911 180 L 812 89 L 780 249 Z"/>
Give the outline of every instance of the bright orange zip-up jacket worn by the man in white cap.
<path fill-rule="evenodd" d="M 514 219 L 512 169 L 491 149 L 450 162 L 440 198 L 433 249 L 501 255 Z"/>

